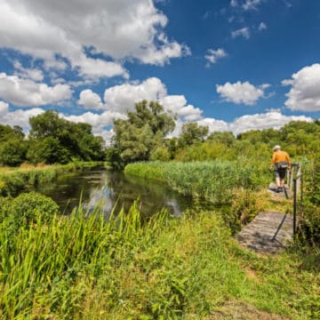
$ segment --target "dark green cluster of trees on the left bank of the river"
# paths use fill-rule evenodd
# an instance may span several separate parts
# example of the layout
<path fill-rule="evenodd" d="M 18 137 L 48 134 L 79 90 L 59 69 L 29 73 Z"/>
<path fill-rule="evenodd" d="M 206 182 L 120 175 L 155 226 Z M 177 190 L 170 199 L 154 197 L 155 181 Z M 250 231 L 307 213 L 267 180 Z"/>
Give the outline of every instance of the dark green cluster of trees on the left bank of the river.
<path fill-rule="evenodd" d="M 104 140 L 92 134 L 92 125 L 72 123 L 56 111 L 29 119 L 26 139 L 20 126 L 0 124 L 0 164 L 68 164 L 104 159 Z"/>

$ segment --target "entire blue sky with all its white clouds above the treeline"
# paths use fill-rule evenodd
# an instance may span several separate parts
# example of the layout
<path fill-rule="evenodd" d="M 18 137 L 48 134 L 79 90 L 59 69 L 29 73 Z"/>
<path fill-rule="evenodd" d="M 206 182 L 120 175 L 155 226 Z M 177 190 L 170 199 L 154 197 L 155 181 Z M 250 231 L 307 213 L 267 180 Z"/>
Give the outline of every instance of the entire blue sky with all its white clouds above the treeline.
<path fill-rule="evenodd" d="M 56 109 L 112 136 L 159 100 L 210 131 L 320 116 L 318 0 L 2 0 L 0 123 Z"/>

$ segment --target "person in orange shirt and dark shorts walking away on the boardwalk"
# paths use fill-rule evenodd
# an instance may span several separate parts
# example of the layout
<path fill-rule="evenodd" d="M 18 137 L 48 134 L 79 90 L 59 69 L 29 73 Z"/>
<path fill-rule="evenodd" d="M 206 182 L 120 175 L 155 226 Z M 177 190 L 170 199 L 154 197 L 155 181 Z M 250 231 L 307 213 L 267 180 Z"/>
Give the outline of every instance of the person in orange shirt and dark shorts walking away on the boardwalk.
<path fill-rule="evenodd" d="M 281 147 L 276 145 L 271 159 L 270 170 L 275 170 L 276 175 L 276 192 L 284 190 L 284 178 L 286 170 L 291 171 L 290 156 Z"/>

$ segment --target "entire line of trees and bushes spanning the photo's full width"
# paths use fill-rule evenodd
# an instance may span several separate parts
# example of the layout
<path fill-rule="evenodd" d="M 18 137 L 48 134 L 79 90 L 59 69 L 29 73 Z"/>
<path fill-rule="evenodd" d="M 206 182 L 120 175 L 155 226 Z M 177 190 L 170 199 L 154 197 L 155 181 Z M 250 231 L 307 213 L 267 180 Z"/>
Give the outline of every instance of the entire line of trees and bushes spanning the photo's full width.
<path fill-rule="evenodd" d="M 207 126 L 189 122 L 178 137 L 175 116 L 164 112 L 158 102 L 135 104 L 126 119 L 114 120 L 115 135 L 105 148 L 102 137 L 92 134 L 92 125 L 72 123 L 56 111 L 29 119 L 31 130 L 25 137 L 19 126 L 0 124 L 0 164 L 67 164 L 71 161 L 107 160 L 116 169 L 138 161 L 182 162 L 239 156 L 265 162 L 272 148 L 280 144 L 292 157 L 320 156 L 320 121 L 292 121 L 279 129 L 251 130 L 235 136 L 232 132 L 212 132 Z"/>

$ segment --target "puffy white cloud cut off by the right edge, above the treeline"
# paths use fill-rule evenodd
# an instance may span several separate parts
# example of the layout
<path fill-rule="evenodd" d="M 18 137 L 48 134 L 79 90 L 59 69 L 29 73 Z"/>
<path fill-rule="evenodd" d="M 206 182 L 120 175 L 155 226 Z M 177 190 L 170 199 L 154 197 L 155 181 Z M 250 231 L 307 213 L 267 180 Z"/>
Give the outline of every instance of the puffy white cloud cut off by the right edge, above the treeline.
<path fill-rule="evenodd" d="M 292 75 L 292 79 L 284 80 L 284 85 L 291 85 L 286 94 L 284 105 L 292 110 L 320 111 L 320 64 L 301 68 Z"/>

